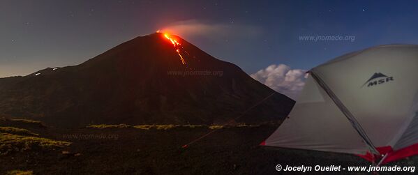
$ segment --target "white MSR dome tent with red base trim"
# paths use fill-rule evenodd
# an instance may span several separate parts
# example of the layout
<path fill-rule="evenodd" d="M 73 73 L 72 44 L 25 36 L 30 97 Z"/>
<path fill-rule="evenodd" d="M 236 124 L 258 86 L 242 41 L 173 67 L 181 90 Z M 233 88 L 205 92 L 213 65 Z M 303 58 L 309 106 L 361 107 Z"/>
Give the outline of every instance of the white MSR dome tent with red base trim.
<path fill-rule="evenodd" d="M 390 162 L 418 153 L 418 45 L 345 54 L 308 72 L 292 112 L 262 145 Z"/>

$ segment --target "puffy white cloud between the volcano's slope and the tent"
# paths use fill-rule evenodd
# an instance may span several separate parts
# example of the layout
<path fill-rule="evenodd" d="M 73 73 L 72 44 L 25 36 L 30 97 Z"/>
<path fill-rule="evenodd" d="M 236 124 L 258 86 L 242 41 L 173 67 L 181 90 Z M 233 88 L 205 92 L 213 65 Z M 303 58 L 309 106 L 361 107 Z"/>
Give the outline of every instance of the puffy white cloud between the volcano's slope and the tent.
<path fill-rule="evenodd" d="M 304 88 L 305 73 L 306 70 L 291 69 L 284 64 L 272 64 L 257 73 L 251 74 L 251 77 L 274 89 L 274 91 L 296 100 Z"/>

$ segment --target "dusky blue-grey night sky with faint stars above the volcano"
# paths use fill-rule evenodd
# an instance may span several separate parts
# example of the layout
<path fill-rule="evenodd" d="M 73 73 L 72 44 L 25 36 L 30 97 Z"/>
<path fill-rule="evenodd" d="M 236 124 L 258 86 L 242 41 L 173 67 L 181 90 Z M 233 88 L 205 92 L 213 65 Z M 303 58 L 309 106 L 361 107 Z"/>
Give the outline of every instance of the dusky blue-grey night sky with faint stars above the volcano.
<path fill-rule="evenodd" d="M 0 77 L 76 65 L 165 29 L 253 74 L 308 70 L 374 45 L 418 42 L 418 1 L 0 2 Z M 299 40 L 354 36 L 354 40 Z"/>

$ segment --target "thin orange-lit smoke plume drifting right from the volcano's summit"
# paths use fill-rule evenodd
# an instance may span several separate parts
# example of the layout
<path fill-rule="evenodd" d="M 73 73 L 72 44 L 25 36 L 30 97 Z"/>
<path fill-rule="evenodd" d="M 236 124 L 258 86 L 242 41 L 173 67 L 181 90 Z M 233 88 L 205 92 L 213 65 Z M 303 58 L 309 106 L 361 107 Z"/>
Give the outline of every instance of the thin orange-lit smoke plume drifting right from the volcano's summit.
<path fill-rule="evenodd" d="M 160 29 L 161 32 L 173 33 L 178 36 L 256 37 L 262 33 L 259 26 L 244 24 L 207 23 L 197 20 L 175 22 Z"/>

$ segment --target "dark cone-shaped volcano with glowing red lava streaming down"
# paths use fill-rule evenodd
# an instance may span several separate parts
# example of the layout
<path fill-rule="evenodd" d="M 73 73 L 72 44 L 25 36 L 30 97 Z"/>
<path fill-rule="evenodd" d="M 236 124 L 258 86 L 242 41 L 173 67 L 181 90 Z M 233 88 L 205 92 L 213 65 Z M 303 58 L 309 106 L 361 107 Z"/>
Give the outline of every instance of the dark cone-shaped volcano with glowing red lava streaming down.
<path fill-rule="evenodd" d="M 163 33 L 134 38 L 77 66 L 0 79 L 0 116 L 63 127 L 209 125 L 250 108 L 236 122 L 262 123 L 282 119 L 293 105 L 238 66 Z"/>

